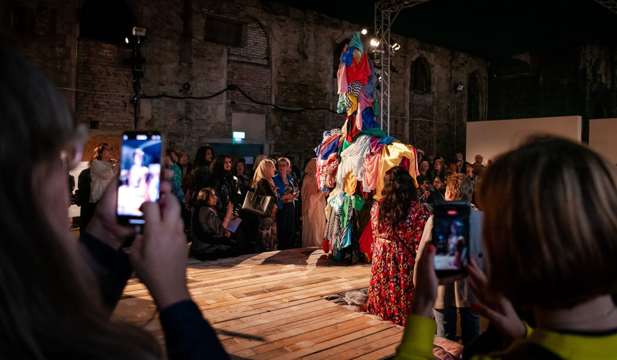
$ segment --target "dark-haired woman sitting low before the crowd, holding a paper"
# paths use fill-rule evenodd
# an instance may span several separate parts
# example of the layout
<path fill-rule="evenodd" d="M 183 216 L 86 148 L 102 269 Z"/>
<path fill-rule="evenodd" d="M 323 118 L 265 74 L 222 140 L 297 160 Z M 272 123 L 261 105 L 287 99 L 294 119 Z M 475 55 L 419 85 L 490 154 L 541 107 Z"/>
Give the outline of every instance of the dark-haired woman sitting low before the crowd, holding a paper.
<path fill-rule="evenodd" d="M 226 230 L 233 212 L 233 204 L 228 203 L 223 220 L 217 216 L 217 194 L 213 188 L 203 188 L 197 195 L 199 210 L 193 214 L 193 243 L 191 253 L 196 259 L 215 260 L 225 257 L 231 248 L 229 230 Z"/>

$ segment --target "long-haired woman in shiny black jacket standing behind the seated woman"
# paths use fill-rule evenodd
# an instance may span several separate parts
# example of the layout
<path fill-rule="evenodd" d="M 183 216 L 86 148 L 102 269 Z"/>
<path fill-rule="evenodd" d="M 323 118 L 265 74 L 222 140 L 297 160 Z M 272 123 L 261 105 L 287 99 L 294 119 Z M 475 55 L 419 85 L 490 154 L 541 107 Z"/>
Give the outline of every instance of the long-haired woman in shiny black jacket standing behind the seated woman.
<path fill-rule="evenodd" d="M 217 214 L 218 218 L 223 220 L 227 211 L 227 204 L 233 204 L 233 213 L 237 216 L 238 211 L 242 209 L 242 194 L 238 178 L 231 174 L 231 157 L 227 155 L 217 156 L 216 161 L 212 165 L 212 175 L 208 182 L 208 187 L 213 188 L 217 193 Z"/>

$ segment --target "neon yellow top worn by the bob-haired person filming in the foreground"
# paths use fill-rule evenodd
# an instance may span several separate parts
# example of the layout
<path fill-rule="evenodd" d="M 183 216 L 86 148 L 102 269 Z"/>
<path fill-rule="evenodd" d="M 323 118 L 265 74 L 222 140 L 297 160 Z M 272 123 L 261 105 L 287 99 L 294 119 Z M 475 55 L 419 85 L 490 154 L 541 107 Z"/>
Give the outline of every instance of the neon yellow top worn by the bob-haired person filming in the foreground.
<path fill-rule="evenodd" d="M 472 360 L 499 360 L 503 354 L 523 345 L 535 343 L 567 360 L 617 359 L 617 333 L 610 335 L 573 335 L 552 332 L 545 329 L 532 330 L 525 324 L 528 338 L 517 340 L 505 352 L 474 355 Z M 395 359 L 433 360 L 433 334 L 436 325 L 433 320 L 417 315 L 408 315 L 405 322 L 403 341 L 396 350 Z"/>

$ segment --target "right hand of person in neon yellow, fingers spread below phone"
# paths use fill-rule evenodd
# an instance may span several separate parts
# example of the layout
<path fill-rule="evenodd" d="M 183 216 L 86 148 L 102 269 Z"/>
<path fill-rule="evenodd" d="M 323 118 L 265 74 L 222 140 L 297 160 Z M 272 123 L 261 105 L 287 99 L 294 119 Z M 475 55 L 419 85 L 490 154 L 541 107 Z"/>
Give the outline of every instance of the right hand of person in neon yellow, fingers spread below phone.
<path fill-rule="evenodd" d="M 466 270 L 470 276 L 471 290 L 480 301 L 480 303 L 471 304 L 471 309 L 491 320 L 507 342 L 504 345 L 510 345 L 511 341 L 524 338 L 527 329 L 516 314 L 510 300 L 503 296 L 491 296 L 486 292 L 488 279 L 473 258 L 470 258 Z"/>

